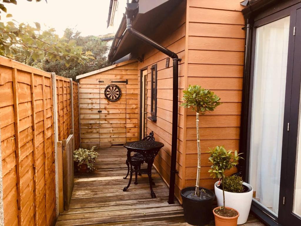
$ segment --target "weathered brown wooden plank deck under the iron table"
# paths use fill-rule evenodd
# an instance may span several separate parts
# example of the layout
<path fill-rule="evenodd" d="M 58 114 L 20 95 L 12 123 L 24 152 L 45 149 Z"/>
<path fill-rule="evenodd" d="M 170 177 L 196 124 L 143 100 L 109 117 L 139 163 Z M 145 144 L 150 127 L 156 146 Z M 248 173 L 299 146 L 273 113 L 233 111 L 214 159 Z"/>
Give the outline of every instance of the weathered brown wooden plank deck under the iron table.
<path fill-rule="evenodd" d="M 127 172 L 126 149 L 119 146 L 98 152 L 97 171 L 76 174 L 70 209 L 59 216 L 57 226 L 190 225 L 185 222 L 182 206 L 177 200 L 172 205 L 167 203 L 168 187 L 154 169 L 157 198 L 151 198 L 147 175 L 138 176 L 138 185 L 132 180 L 129 189 L 123 192 L 129 181 L 123 179 Z M 263 224 L 250 215 L 244 225 Z"/>

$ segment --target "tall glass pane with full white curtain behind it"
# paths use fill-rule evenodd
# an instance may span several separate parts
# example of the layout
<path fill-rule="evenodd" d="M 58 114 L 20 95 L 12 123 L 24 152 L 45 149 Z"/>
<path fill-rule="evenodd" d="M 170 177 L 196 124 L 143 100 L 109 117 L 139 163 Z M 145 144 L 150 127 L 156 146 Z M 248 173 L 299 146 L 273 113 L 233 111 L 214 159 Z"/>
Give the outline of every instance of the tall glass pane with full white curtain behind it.
<path fill-rule="evenodd" d="M 290 17 L 256 30 L 250 184 L 253 198 L 278 215 Z"/>

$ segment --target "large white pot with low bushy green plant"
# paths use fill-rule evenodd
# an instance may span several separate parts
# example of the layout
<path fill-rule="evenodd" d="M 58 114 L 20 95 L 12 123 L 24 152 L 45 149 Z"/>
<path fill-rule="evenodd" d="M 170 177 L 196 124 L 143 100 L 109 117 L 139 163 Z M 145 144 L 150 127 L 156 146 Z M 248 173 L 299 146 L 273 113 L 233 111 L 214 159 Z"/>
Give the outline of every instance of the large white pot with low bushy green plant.
<path fill-rule="evenodd" d="M 222 186 L 225 189 L 225 202 L 227 206 L 239 212 L 237 224 L 246 223 L 252 204 L 253 187 L 243 182 L 242 178 L 237 175 L 225 177 L 222 184 L 218 186 L 218 182 L 216 182 L 214 185 L 218 206 L 223 205 Z"/>

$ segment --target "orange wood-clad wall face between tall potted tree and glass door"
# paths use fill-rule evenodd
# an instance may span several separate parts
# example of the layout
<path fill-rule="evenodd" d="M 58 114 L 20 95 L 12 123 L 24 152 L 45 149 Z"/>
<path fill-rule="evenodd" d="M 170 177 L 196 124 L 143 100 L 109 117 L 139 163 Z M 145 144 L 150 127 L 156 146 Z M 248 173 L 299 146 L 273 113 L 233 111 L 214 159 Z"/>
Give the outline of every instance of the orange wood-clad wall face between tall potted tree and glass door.
<path fill-rule="evenodd" d="M 214 91 L 223 102 L 215 111 L 200 115 L 200 186 L 213 189 L 207 172 L 208 148 L 239 146 L 242 77 L 244 67 L 244 18 L 239 0 L 187 1 L 187 80 Z M 194 186 L 197 172 L 195 112 L 187 110 L 185 187 Z M 228 172 L 231 174 L 236 169 Z"/>

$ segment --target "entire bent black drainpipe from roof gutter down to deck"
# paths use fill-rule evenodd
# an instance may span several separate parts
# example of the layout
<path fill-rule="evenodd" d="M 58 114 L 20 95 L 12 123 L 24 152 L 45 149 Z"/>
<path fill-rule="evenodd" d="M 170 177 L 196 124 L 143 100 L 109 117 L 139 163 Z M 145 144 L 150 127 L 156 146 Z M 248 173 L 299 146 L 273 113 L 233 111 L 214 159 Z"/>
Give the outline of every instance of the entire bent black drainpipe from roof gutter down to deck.
<path fill-rule="evenodd" d="M 138 3 L 127 3 L 126 4 L 126 30 L 137 39 L 145 42 L 147 45 L 158 49 L 160 52 L 168 55 L 173 60 L 173 73 L 172 73 L 172 143 L 171 143 L 171 164 L 170 164 L 170 181 L 169 181 L 169 198 L 168 203 L 174 203 L 175 193 L 175 174 L 176 171 L 176 159 L 177 159 L 177 140 L 178 140 L 178 55 L 169 49 L 161 46 L 159 43 L 148 38 L 132 28 L 132 19 L 135 11 L 138 10 Z"/>

